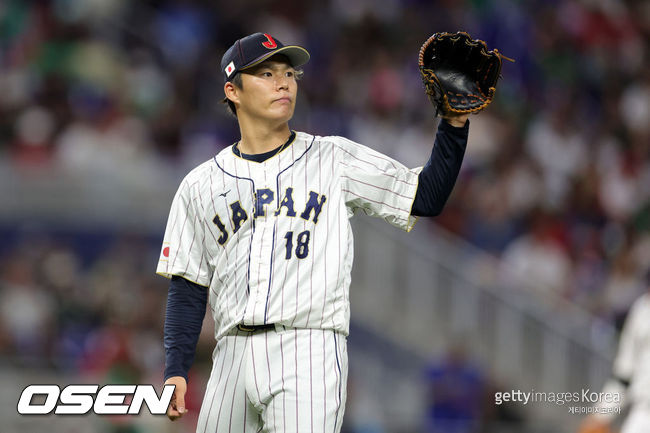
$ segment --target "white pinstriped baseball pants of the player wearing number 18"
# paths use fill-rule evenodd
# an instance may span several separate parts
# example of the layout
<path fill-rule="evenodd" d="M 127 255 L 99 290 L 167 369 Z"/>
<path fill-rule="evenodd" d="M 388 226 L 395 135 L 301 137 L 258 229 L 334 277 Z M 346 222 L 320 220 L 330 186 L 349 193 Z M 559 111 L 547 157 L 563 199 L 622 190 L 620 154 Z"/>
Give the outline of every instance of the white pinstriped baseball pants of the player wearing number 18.
<path fill-rule="evenodd" d="M 347 339 L 322 329 L 234 329 L 213 352 L 197 433 L 338 433 Z"/>

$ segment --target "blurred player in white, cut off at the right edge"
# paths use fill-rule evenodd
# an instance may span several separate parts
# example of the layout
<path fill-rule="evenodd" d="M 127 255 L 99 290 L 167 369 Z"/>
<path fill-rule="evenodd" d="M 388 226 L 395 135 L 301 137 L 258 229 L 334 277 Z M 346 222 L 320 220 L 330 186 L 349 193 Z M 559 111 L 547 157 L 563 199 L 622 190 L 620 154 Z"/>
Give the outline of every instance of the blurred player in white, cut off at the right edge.
<path fill-rule="evenodd" d="M 609 425 L 618 413 L 612 410 L 614 406 L 630 408 L 621 433 L 650 431 L 650 269 L 645 283 L 646 293 L 635 301 L 625 320 L 613 375 L 602 391 L 605 395 L 618 394 L 620 401 L 599 402 L 596 413 L 583 422 L 581 432 L 610 431 Z"/>

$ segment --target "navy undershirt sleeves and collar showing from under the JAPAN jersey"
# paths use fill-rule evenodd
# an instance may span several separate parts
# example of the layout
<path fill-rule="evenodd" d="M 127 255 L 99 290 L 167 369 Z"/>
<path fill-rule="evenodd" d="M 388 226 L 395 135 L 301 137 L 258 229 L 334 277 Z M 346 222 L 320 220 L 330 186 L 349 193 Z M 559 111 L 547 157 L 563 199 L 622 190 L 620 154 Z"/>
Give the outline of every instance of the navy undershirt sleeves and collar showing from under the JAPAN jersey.
<path fill-rule="evenodd" d="M 460 128 L 451 126 L 444 120 L 440 122 L 431 157 L 418 175 L 418 189 L 411 207 L 412 215 L 440 214 L 460 172 L 468 134 L 469 121 Z M 286 143 L 270 152 L 242 154 L 236 145 L 232 147 L 232 151 L 241 158 L 264 162 L 275 156 L 281 147 L 290 144 L 295 136 L 296 133 L 291 132 Z M 187 373 L 194 362 L 207 301 L 207 287 L 179 276 L 172 276 L 165 313 L 165 380 L 173 376 L 182 376 L 187 380 Z"/>

